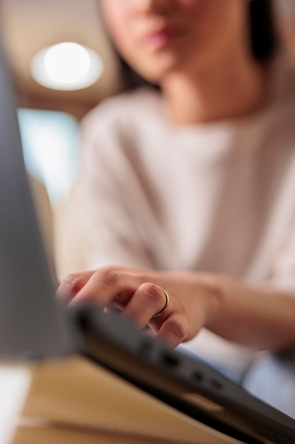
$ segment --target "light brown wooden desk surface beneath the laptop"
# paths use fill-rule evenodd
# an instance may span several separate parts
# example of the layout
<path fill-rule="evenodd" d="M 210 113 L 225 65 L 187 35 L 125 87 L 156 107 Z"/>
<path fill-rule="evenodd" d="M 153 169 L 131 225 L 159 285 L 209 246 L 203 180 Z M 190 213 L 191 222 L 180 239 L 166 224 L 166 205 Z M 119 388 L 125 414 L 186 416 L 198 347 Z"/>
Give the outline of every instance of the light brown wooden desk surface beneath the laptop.
<path fill-rule="evenodd" d="M 12 444 L 237 444 L 82 357 L 31 368 Z"/>

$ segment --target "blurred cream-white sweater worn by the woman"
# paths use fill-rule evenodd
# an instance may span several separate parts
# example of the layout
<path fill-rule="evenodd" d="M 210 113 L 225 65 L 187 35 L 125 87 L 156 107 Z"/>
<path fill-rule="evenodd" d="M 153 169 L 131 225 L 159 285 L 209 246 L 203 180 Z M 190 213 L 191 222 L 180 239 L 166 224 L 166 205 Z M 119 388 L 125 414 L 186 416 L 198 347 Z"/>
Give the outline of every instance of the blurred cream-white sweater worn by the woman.
<path fill-rule="evenodd" d="M 270 103 L 248 118 L 175 127 L 149 89 L 88 114 L 87 268 L 207 270 L 295 292 L 295 74 L 274 73 Z M 206 331 L 187 348 L 221 366 L 253 357 Z"/>

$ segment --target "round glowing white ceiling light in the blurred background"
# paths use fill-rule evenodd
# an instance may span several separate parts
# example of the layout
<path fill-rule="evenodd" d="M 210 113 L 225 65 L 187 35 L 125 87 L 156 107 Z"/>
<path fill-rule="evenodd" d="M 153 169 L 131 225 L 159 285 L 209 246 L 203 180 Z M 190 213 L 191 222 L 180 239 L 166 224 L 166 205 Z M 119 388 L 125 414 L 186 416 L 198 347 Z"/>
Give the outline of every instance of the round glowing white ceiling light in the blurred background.
<path fill-rule="evenodd" d="M 30 69 L 43 87 L 73 91 L 96 83 L 104 67 L 97 52 L 79 43 L 64 42 L 37 52 Z"/>

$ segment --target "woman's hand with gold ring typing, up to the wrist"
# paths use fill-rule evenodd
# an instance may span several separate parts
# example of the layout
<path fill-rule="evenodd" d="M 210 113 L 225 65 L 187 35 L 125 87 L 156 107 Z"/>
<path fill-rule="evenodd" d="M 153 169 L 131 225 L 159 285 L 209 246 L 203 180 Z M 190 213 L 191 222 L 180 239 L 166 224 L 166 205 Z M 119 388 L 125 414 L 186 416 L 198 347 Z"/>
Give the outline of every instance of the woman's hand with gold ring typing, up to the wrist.
<path fill-rule="evenodd" d="M 158 287 L 159 286 L 159 287 Z M 159 316 L 156 313 L 166 306 Z M 107 267 L 69 274 L 58 292 L 71 304 L 94 302 L 119 308 L 139 328 L 151 326 L 158 338 L 176 347 L 209 325 L 219 310 L 221 294 L 209 274 L 154 272 Z"/>

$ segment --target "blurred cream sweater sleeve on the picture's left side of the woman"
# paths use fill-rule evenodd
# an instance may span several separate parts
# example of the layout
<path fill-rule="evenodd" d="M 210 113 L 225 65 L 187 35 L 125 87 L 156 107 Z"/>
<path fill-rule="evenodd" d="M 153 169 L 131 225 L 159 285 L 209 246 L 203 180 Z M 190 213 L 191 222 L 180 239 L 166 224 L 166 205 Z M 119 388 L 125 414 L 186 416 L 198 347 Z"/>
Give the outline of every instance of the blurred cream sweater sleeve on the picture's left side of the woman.
<path fill-rule="evenodd" d="M 136 212 L 130 211 L 136 202 L 130 202 L 132 171 L 123 129 L 120 116 L 108 104 L 98 107 L 81 126 L 79 186 L 88 269 L 107 265 L 153 267 Z"/>

